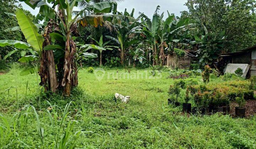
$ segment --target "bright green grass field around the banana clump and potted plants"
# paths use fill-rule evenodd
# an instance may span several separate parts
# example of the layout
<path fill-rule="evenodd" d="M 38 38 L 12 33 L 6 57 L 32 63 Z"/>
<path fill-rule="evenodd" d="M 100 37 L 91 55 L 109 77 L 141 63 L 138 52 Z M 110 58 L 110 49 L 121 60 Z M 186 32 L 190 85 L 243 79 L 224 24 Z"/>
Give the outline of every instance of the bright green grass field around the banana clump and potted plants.
<path fill-rule="evenodd" d="M 256 148 L 255 116 L 184 115 L 167 105 L 174 82 L 168 71 L 153 77 L 150 70 L 104 68 L 95 75 L 84 68 L 66 98 L 44 94 L 37 75 L 20 71 L 0 75 L 1 148 Z M 185 81 L 191 79 L 203 84 L 201 76 Z M 131 96 L 129 103 L 116 103 L 114 93 Z"/>

